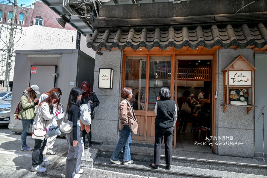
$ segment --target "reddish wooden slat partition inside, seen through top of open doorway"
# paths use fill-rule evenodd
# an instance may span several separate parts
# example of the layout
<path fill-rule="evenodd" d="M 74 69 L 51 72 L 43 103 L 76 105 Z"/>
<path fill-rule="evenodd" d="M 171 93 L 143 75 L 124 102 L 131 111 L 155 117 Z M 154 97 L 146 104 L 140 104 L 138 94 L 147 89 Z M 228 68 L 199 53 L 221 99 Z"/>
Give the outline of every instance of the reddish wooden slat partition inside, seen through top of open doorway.
<path fill-rule="evenodd" d="M 209 65 L 199 65 L 194 68 L 189 65 L 178 65 L 178 80 L 210 81 L 210 76 Z"/>

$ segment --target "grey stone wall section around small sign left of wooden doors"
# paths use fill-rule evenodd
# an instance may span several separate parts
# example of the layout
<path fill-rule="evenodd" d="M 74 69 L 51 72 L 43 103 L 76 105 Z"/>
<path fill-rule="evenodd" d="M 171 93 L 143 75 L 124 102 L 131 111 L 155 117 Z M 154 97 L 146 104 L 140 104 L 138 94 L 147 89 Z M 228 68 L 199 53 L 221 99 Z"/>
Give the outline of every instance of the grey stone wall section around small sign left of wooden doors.
<path fill-rule="evenodd" d="M 101 51 L 102 56 L 95 55 L 94 92 L 100 105 L 95 108 L 92 120 L 92 139 L 103 140 L 103 144 L 116 145 L 119 136 L 118 117 L 121 99 L 122 52 L 119 50 Z M 99 68 L 113 69 L 113 88 L 99 89 Z"/>

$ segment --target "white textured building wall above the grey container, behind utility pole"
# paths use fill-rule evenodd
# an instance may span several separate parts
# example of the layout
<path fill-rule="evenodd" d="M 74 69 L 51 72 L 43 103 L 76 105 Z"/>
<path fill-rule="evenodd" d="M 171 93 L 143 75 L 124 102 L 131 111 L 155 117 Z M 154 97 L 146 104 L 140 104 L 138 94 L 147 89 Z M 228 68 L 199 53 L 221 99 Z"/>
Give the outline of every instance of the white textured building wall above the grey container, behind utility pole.
<path fill-rule="evenodd" d="M 7 25 L 4 25 L 7 27 Z M 0 47 L 5 49 L 8 43 L 9 30 L 1 30 Z M 10 27 L 10 26 L 9 26 Z M 22 29 L 22 30 L 19 30 Z M 15 35 L 15 32 L 14 32 Z M 14 36 L 15 50 L 49 50 L 49 49 L 75 49 L 76 48 L 76 30 L 65 30 L 59 28 L 42 27 L 33 25 L 30 27 L 18 27 Z M 7 37 L 7 38 L 6 38 Z M 73 37 L 73 40 L 72 40 Z M 89 48 L 88 48 L 89 49 Z M 0 59 L 5 58 L 6 52 L 1 52 Z M 13 81 L 15 53 L 12 57 L 12 68 L 10 71 L 10 81 Z M 5 62 L 0 62 L 0 80 L 4 80 Z"/>

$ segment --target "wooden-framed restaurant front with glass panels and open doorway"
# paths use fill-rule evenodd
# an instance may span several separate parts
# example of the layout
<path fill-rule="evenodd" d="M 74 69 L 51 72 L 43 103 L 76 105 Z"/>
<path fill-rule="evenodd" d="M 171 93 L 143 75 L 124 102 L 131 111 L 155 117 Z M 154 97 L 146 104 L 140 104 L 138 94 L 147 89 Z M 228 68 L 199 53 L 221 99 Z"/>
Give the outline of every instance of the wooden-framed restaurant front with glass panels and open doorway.
<path fill-rule="evenodd" d="M 201 88 L 205 88 L 207 90 L 205 98 L 211 102 L 211 66 L 213 59 L 213 55 L 124 55 L 122 88 L 130 87 L 133 89 L 133 98 L 130 102 L 133 105 L 138 121 L 138 134 L 133 135 L 133 140 L 154 142 L 154 122 L 156 117 L 154 108 L 159 90 L 162 87 L 170 89 L 171 99 L 175 100 L 176 103 L 184 89 L 189 88 L 197 100 L 198 91 L 200 92 Z M 201 60 L 201 62 L 196 65 L 195 62 L 198 60 Z M 189 67 L 189 64 L 191 67 Z M 187 67 L 185 67 L 186 65 Z M 212 112 L 212 110 L 210 111 Z M 190 130 L 188 135 L 191 132 L 192 119 L 189 119 L 189 121 L 187 129 L 190 127 Z M 177 122 L 178 124 L 179 122 Z M 185 142 L 182 144 L 177 142 L 179 139 L 176 137 L 180 136 L 176 134 L 176 129 L 175 127 L 173 148 L 176 147 L 176 143 L 178 143 L 178 148 L 182 146 L 185 148 Z M 192 143 L 194 143 L 193 139 Z"/>

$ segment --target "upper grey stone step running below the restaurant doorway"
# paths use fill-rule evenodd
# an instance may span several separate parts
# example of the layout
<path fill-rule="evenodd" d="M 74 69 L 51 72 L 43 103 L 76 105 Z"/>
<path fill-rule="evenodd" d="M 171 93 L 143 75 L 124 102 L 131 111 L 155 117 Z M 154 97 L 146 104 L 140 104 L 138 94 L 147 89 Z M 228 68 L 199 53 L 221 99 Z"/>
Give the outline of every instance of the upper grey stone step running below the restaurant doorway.
<path fill-rule="evenodd" d="M 115 148 L 115 146 L 110 145 L 103 145 L 103 147 L 101 146 L 98 148 L 98 154 L 96 158 L 110 158 L 114 151 L 113 147 Z M 176 149 L 173 149 L 172 152 L 172 165 L 175 166 L 267 175 L 267 163 L 260 162 L 254 158 L 219 156 L 206 152 Z M 119 156 L 119 159 L 122 159 L 122 152 Z M 131 159 L 139 162 L 152 163 L 154 160 L 154 149 L 131 147 Z M 160 163 L 165 164 L 165 150 L 162 150 L 161 152 Z"/>

